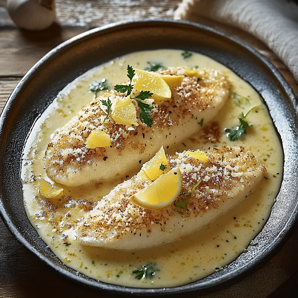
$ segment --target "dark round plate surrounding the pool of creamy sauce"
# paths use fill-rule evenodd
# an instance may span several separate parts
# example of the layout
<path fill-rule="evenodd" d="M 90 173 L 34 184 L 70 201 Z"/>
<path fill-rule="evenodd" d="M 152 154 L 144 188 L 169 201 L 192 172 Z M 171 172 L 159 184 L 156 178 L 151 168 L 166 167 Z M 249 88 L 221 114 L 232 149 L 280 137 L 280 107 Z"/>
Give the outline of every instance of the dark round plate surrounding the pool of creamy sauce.
<path fill-rule="evenodd" d="M 123 46 L 125 44 L 125 46 Z M 38 237 L 23 206 L 22 148 L 35 119 L 68 83 L 115 57 L 148 49 L 184 49 L 207 55 L 236 72 L 264 98 L 284 150 L 284 175 L 271 216 L 256 237 L 257 246 L 224 270 L 175 288 L 141 289 L 109 285 L 65 266 Z M 66 41 L 49 52 L 13 91 L 0 119 L 0 212 L 13 235 L 41 260 L 80 283 L 122 294 L 204 294 L 239 281 L 265 263 L 283 242 L 297 218 L 298 119 L 293 91 L 260 53 L 214 29 L 172 20 L 111 24 Z M 280 156 L 282 159 L 283 156 Z M 190 293 L 189 293 L 190 294 Z"/>

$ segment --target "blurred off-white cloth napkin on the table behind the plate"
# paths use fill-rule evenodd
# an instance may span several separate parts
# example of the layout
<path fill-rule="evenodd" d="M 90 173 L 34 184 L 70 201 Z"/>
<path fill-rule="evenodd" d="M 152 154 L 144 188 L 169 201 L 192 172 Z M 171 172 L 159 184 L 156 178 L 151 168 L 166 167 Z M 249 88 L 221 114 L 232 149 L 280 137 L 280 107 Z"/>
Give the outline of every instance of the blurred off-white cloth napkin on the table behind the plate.
<path fill-rule="evenodd" d="M 263 41 L 298 80 L 298 5 L 291 0 L 183 0 L 175 19 L 207 17 Z"/>

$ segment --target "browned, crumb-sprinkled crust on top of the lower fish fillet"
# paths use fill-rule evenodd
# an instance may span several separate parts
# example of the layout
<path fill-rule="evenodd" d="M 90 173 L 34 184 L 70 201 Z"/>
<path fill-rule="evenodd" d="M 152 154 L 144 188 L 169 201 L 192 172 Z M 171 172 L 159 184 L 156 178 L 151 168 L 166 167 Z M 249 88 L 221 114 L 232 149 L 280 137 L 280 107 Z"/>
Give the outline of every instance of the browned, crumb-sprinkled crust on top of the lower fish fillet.
<path fill-rule="evenodd" d="M 168 156 L 169 167 L 179 166 L 181 170 L 182 192 L 190 192 L 202 180 L 192 195 L 178 197 L 179 201 L 189 199 L 187 210 L 176 207 L 174 203 L 157 211 L 132 204 L 129 197 L 148 185 L 148 181 L 138 174 L 115 187 L 86 215 L 78 228 L 80 236 L 91 237 L 89 232 L 92 231 L 92 235 L 103 239 L 121 238 L 125 233 L 136 234 L 143 229 L 150 233 L 153 226 L 163 231 L 167 221 L 177 216 L 177 211 L 183 211 L 184 218 L 201 217 L 210 209 L 221 208 L 225 200 L 233 199 L 235 189 L 241 191 L 250 185 L 253 177 L 266 172 L 266 168 L 243 147 L 212 148 L 206 154 L 209 157 L 207 162 L 185 153 Z"/>

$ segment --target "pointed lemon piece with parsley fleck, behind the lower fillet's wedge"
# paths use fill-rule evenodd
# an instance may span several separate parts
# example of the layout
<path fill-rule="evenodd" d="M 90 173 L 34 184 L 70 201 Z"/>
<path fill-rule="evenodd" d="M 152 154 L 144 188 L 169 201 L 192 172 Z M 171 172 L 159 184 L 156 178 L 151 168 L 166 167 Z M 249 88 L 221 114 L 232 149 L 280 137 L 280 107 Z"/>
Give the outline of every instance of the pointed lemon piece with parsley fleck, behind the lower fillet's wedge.
<path fill-rule="evenodd" d="M 161 167 L 162 164 L 165 168 Z M 162 168 L 162 170 L 160 168 Z M 164 153 L 164 146 L 160 147 L 157 153 L 148 162 L 143 164 L 142 170 L 150 180 L 155 180 L 169 171 L 167 157 Z"/>

